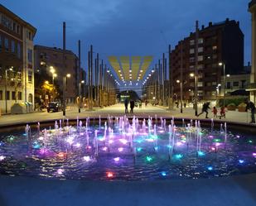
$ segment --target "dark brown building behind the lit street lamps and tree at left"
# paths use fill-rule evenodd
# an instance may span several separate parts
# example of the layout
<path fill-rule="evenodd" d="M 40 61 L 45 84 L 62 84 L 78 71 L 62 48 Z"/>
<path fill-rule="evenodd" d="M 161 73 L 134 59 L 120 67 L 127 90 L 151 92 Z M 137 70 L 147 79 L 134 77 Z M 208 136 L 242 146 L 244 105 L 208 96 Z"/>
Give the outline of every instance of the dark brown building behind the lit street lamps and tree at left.
<path fill-rule="evenodd" d="M 78 57 L 71 51 L 65 50 L 65 60 L 63 65 L 63 50 L 56 47 L 38 46 L 35 50 L 35 68 L 37 73 L 46 71 L 52 77 L 51 69 L 55 70 L 56 77 L 54 77 L 54 84 L 58 84 L 60 91 L 63 90 L 63 79 L 66 74 L 70 74 L 70 78 L 66 78 L 65 98 L 67 103 L 74 104 L 78 97 Z M 80 71 L 80 74 L 83 74 Z M 53 78 L 52 78 L 53 79 Z M 52 79 L 46 81 L 52 82 Z M 51 101 L 51 97 L 40 97 L 44 101 Z"/>

